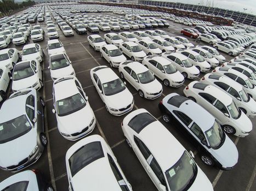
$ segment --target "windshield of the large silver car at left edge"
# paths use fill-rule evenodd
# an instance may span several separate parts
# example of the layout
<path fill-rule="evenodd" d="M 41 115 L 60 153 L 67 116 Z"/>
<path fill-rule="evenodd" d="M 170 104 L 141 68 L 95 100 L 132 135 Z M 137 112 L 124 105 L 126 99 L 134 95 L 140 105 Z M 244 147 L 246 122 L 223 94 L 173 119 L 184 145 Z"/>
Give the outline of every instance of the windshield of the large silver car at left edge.
<path fill-rule="evenodd" d="M 13 120 L 0 124 L 0 143 L 8 142 L 19 138 L 31 130 L 31 125 L 27 117 L 22 115 Z"/>

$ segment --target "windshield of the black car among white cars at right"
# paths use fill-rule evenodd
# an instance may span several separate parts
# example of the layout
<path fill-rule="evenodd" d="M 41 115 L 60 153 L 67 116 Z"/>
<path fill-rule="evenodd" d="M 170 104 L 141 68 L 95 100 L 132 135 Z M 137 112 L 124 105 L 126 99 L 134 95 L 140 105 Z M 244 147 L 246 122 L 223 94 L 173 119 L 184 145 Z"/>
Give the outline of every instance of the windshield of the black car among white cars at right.
<path fill-rule="evenodd" d="M 225 135 L 217 121 L 214 121 L 213 127 L 205 132 L 206 138 L 212 148 L 218 148 L 222 145 Z"/>

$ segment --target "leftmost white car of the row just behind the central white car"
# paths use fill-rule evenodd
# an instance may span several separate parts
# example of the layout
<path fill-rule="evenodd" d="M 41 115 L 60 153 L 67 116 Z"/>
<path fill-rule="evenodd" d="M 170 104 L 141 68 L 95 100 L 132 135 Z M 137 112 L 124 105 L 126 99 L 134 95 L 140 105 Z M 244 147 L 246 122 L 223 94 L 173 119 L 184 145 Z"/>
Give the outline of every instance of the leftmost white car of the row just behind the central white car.
<path fill-rule="evenodd" d="M 111 67 L 116 68 L 118 68 L 121 62 L 127 60 L 127 58 L 123 55 L 122 51 L 120 51 L 118 47 L 113 44 L 101 46 L 100 56 L 104 57 Z"/>

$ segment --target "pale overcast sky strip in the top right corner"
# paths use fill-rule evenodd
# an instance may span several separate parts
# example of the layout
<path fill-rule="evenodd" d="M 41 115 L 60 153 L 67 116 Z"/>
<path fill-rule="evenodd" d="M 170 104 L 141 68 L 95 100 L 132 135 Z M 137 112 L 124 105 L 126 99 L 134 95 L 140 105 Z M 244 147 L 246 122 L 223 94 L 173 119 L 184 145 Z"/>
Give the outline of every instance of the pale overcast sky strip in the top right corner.
<path fill-rule="evenodd" d="M 155 0 L 157 1 L 157 0 Z M 159 1 L 159 0 L 158 0 Z M 164 0 L 162 0 L 164 1 Z M 207 0 L 165 0 L 171 2 L 188 3 L 206 5 Z M 231 9 L 243 12 L 243 8 L 247 9 L 245 13 L 256 15 L 256 0 L 208 0 L 208 2 L 214 3 L 214 7 Z"/>

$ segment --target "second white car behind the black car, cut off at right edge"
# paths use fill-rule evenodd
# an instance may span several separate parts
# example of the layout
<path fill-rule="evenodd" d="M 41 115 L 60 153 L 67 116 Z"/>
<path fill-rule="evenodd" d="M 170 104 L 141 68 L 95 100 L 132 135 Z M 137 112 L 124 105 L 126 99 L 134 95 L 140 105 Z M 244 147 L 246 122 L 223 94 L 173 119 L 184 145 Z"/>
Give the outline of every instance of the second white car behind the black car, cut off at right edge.
<path fill-rule="evenodd" d="M 240 83 L 237 83 L 229 77 L 214 75 L 211 73 L 203 76 L 200 82 L 218 87 L 229 94 L 237 107 L 241 109 L 244 114 L 248 117 L 256 116 L 256 102 L 248 96 Z"/>

